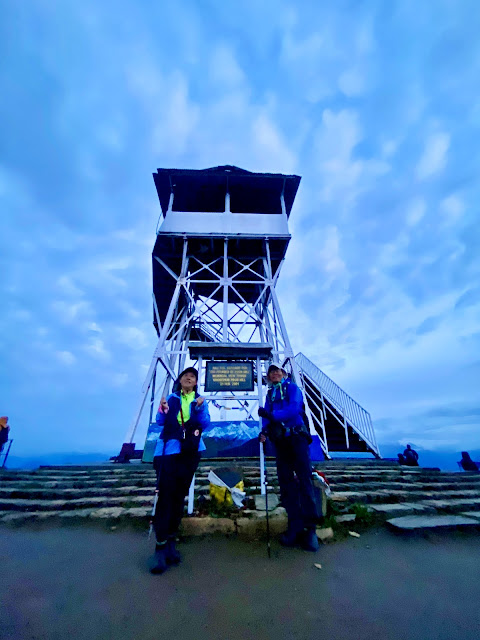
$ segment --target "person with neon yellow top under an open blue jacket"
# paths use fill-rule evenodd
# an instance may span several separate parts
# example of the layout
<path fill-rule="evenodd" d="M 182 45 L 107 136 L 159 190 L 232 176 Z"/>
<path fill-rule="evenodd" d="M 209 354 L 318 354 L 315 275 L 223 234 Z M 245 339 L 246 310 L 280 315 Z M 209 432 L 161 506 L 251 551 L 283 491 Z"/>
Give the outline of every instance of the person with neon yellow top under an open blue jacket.
<path fill-rule="evenodd" d="M 210 423 L 207 403 L 197 393 L 197 382 L 196 369 L 188 367 L 178 377 L 173 393 L 162 398 L 158 408 L 157 424 L 163 429 L 153 458 L 158 499 L 153 518 L 156 547 L 152 573 L 163 573 L 168 565 L 181 561 L 175 539 L 200 452 L 206 449 L 202 431 Z"/>

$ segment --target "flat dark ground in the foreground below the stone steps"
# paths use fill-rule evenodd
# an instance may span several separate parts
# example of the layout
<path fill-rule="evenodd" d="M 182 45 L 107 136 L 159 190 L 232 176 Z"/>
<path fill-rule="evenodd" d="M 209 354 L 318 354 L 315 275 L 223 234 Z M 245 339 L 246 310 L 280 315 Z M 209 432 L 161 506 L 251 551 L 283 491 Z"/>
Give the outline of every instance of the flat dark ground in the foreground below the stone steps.
<path fill-rule="evenodd" d="M 162 576 L 143 532 L 3 530 L 2 640 L 478 640 L 480 537 L 380 530 L 317 554 L 198 538 Z M 314 566 L 320 563 L 321 569 Z"/>

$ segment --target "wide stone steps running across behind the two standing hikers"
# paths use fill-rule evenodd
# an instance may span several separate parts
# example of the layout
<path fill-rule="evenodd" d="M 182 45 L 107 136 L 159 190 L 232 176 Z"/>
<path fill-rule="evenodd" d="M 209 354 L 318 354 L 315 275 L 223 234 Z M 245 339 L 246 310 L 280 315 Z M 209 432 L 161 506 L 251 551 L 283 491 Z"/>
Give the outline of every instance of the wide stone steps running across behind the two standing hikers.
<path fill-rule="evenodd" d="M 196 474 L 195 496 L 208 500 L 208 472 L 220 466 L 243 469 L 247 495 L 260 493 L 256 459 L 202 460 Z M 332 489 L 338 514 L 353 503 L 363 503 L 391 526 L 408 517 L 459 515 L 480 523 L 480 474 L 440 472 L 438 469 L 401 467 L 385 460 L 325 461 L 315 465 Z M 269 492 L 278 493 L 273 460 L 267 460 Z M 147 526 L 154 497 L 151 465 L 104 464 L 82 467 L 40 467 L 33 471 L 0 472 L 0 523 L 130 522 Z M 252 510 L 247 510 L 252 515 Z M 244 512 L 242 512 L 244 515 Z M 404 520 L 405 522 L 405 520 Z M 420 520 L 418 521 L 420 522 Z M 447 520 L 456 524 L 456 521 Z M 458 522 L 461 524 L 460 522 Z M 397 523 L 398 524 L 398 523 Z M 468 522 L 466 523 L 468 524 Z"/>

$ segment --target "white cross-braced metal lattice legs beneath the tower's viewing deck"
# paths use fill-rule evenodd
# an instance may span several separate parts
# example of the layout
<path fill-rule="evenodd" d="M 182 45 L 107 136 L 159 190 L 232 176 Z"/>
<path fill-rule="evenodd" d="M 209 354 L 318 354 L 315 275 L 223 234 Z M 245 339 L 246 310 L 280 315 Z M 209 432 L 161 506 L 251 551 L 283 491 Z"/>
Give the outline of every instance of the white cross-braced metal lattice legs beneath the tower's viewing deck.
<path fill-rule="evenodd" d="M 178 273 L 175 273 L 161 258 L 154 256 L 164 269 L 164 277 L 175 280 L 175 290 L 163 325 L 154 300 L 159 337 L 142 387 L 140 406 L 130 426 L 127 442 L 132 442 L 135 437 L 149 390 L 151 389 L 151 418 L 155 395 L 162 386 L 162 394 L 168 394 L 173 382 L 183 370 L 193 328 L 200 332 L 207 342 L 269 343 L 272 346 L 273 359 L 284 366 L 305 394 L 303 377 L 294 357 L 275 290 L 283 261 L 274 273 L 269 240 L 264 236 L 262 239 L 264 253 L 254 259 L 242 261 L 229 255 L 229 238 L 225 237 L 223 255 L 204 262 L 197 255 L 189 253 L 189 238 L 185 236 L 181 268 Z M 209 285 L 210 295 L 196 295 L 197 285 Z M 242 294 L 242 285 L 256 287 L 258 293 L 255 300 L 245 299 Z M 219 292 L 220 295 L 217 295 Z M 201 358 L 197 366 L 201 372 Z M 247 415 L 248 418 L 252 418 L 252 413 L 259 404 L 263 403 L 264 367 L 265 363 L 257 359 L 257 396 L 245 396 L 233 392 L 204 395 L 207 399 L 224 399 L 237 403 L 246 399 L 253 400 Z M 163 376 L 157 373 L 159 368 L 163 370 Z M 159 389 L 155 389 L 156 378 L 163 381 Z M 308 404 L 305 404 L 310 431 L 312 434 L 319 435 L 321 446 L 327 452 L 324 426 L 317 425 L 315 428 Z"/>

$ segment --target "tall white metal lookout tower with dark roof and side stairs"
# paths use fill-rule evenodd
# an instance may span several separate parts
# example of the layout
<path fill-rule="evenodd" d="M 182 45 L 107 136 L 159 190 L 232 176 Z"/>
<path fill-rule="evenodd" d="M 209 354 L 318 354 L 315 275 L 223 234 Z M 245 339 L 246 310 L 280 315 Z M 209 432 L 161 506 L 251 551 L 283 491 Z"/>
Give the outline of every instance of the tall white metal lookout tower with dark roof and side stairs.
<path fill-rule="evenodd" d="M 248 417 L 255 419 L 265 394 L 266 368 L 279 361 L 304 391 L 310 431 L 327 456 L 328 425 L 335 421 L 345 435 L 346 448 L 342 440 L 340 450 L 379 455 L 369 414 L 359 407 L 367 417 L 354 443 L 358 425 L 329 400 L 318 381 L 312 382 L 310 370 L 304 375 L 283 320 L 275 286 L 291 237 L 288 219 L 300 177 L 226 165 L 201 171 L 158 169 L 154 180 L 162 210 L 152 254 L 158 342 L 128 441 L 134 439 L 147 399 L 151 419 L 156 396 L 170 392 L 187 359 L 196 362 L 202 388 L 206 359 L 233 358 L 254 362 L 255 392 L 203 393 L 207 399 L 231 407 L 244 407 L 248 400 Z"/>

